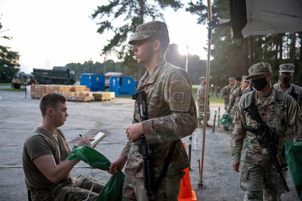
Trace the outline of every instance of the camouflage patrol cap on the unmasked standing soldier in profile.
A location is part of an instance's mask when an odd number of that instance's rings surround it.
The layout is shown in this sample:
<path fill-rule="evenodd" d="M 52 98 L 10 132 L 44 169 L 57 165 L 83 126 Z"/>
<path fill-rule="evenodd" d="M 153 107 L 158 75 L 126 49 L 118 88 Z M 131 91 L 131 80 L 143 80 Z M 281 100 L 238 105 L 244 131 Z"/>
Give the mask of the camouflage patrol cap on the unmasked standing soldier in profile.
<path fill-rule="evenodd" d="M 135 36 L 129 40 L 129 44 L 133 45 L 136 40 L 147 39 L 151 36 L 166 36 L 169 39 L 169 32 L 166 23 L 161 21 L 151 21 L 137 26 Z"/>

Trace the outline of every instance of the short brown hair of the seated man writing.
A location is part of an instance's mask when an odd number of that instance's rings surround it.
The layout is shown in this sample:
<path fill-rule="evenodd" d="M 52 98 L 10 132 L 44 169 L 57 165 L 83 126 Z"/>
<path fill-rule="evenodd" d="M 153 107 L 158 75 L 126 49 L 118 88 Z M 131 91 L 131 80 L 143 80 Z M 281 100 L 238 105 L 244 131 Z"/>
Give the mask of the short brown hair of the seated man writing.
<path fill-rule="evenodd" d="M 42 117 L 46 115 L 48 108 L 53 108 L 55 111 L 58 109 L 58 102 L 66 103 L 65 96 L 59 93 L 45 93 L 40 100 L 40 110 Z"/>

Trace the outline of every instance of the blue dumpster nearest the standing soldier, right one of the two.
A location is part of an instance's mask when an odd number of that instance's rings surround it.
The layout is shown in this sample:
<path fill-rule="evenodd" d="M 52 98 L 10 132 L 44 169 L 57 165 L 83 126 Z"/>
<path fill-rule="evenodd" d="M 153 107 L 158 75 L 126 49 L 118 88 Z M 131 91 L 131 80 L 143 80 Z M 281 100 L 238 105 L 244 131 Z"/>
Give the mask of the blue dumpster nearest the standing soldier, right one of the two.
<path fill-rule="evenodd" d="M 135 94 L 136 82 L 132 77 L 111 77 L 110 91 L 116 96 L 127 96 Z"/>

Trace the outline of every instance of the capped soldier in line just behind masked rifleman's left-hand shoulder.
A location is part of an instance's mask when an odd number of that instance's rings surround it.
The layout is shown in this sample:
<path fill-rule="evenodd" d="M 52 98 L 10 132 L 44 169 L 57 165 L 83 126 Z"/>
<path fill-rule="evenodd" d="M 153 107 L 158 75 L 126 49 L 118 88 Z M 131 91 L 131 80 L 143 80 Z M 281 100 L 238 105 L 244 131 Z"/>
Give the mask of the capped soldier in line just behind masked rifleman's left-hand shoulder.
<path fill-rule="evenodd" d="M 230 135 L 231 136 L 234 132 L 233 120 L 234 120 L 235 112 L 236 112 L 236 109 L 237 109 L 237 105 L 239 103 L 239 100 L 240 100 L 241 96 L 243 95 L 243 92 L 245 91 L 245 89 L 251 83 L 251 81 L 246 80 L 246 78 L 247 78 L 246 75 L 242 76 L 242 86 L 233 91 L 233 93 L 231 94 L 231 97 L 230 97 L 229 105 L 226 108 L 226 113 L 228 113 L 230 115 L 229 130 L 230 130 Z"/>

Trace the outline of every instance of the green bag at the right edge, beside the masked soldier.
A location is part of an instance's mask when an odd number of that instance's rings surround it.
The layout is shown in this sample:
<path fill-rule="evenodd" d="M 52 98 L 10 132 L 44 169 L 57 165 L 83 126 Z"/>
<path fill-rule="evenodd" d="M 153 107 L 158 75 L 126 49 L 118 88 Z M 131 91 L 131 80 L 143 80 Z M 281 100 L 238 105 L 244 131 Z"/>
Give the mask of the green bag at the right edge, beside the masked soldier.
<path fill-rule="evenodd" d="M 295 189 L 302 200 L 302 143 L 286 142 L 285 157 Z"/>

